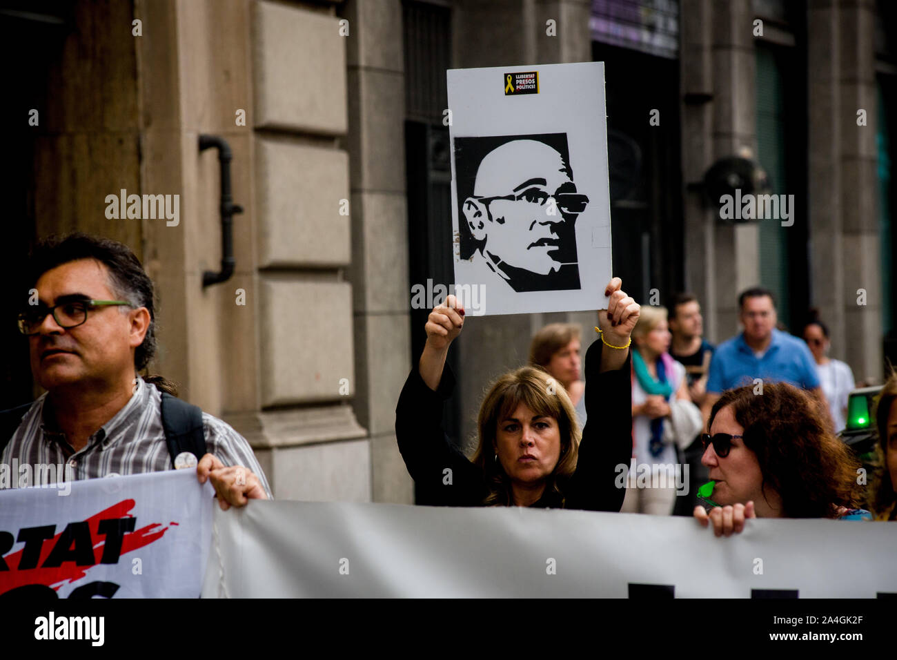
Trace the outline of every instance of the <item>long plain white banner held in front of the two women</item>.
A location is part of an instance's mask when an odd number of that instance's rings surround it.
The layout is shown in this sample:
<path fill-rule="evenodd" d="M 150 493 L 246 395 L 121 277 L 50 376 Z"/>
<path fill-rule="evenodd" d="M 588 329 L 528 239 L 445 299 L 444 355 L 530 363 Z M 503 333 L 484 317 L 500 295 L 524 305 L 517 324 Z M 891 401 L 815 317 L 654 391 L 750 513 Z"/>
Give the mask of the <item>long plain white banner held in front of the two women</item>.
<path fill-rule="evenodd" d="M 253 501 L 215 510 L 204 597 L 875 598 L 897 524 Z"/>

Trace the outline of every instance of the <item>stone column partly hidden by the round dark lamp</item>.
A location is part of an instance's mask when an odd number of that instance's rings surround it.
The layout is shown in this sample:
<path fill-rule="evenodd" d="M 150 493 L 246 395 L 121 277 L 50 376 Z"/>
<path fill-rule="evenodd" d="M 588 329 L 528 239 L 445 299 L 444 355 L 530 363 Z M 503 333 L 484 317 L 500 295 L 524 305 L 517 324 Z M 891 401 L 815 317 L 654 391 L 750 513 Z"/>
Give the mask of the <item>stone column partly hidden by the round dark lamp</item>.
<path fill-rule="evenodd" d="M 719 342 L 739 330 L 738 292 L 760 280 L 759 227 L 720 224 L 698 186 L 719 158 L 757 153 L 753 10 L 750 0 L 681 7 L 685 287 L 701 301 L 705 335 Z"/>

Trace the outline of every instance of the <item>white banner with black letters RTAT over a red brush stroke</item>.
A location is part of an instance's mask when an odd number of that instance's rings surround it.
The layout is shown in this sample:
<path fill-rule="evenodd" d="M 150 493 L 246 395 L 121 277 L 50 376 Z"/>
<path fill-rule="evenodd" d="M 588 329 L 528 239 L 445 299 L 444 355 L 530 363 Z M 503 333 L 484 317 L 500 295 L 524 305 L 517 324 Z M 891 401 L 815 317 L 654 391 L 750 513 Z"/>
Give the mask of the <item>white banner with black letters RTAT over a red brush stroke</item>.
<path fill-rule="evenodd" d="M 212 506 L 195 470 L 2 490 L 0 596 L 196 598 Z"/>

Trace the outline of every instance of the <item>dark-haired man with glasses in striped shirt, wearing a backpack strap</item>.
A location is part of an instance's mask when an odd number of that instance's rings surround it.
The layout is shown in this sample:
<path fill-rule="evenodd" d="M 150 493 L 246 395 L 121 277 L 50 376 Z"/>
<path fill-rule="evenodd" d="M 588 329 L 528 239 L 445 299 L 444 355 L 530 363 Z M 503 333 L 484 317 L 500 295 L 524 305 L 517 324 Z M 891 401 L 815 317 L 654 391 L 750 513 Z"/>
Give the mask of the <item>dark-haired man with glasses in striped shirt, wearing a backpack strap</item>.
<path fill-rule="evenodd" d="M 152 281 L 126 245 L 85 234 L 40 243 L 22 301 L 19 330 L 47 392 L 0 437 L 0 462 L 65 464 L 66 480 L 196 466 L 222 508 L 270 497 L 247 441 L 221 419 L 202 413 L 198 462 L 170 455 L 161 403 L 173 386 L 138 376 L 156 351 Z"/>

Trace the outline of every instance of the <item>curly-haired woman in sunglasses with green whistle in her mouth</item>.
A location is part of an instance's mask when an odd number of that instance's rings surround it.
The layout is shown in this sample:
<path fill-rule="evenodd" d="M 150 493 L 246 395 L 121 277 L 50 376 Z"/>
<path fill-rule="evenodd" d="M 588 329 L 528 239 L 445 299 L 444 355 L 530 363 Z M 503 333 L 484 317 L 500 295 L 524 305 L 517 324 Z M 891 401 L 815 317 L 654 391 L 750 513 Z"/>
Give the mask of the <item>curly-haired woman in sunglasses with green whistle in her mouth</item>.
<path fill-rule="evenodd" d="M 809 394 L 788 383 L 723 392 L 701 439 L 701 463 L 715 482 L 694 517 L 717 536 L 741 532 L 745 518 L 871 519 L 859 509 L 859 462 L 828 428 Z"/>

